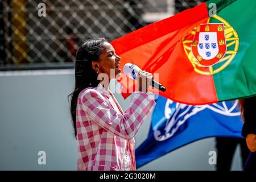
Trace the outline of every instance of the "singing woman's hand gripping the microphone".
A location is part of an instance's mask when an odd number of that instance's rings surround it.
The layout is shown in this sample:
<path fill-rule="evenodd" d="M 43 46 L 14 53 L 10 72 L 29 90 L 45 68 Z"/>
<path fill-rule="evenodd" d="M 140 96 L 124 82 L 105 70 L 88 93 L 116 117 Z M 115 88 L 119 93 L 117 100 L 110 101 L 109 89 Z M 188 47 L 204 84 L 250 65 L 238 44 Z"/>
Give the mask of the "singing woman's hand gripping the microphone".
<path fill-rule="evenodd" d="M 153 76 L 151 73 L 148 73 L 146 71 L 139 72 L 138 79 L 137 79 L 138 91 L 146 93 L 152 79 L 153 79 Z"/>

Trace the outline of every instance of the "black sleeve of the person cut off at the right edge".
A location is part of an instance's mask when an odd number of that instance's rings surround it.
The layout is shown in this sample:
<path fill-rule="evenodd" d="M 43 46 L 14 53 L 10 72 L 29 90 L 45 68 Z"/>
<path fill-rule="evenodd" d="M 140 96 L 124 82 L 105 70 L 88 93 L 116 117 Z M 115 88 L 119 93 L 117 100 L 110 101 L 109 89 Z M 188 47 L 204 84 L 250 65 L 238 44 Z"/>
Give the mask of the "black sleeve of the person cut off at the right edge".
<path fill-rule="evenodd" d="M 256 134 L 256 97 L 245 98 L 242 136 L 246 138 L 248 134 Z"/>

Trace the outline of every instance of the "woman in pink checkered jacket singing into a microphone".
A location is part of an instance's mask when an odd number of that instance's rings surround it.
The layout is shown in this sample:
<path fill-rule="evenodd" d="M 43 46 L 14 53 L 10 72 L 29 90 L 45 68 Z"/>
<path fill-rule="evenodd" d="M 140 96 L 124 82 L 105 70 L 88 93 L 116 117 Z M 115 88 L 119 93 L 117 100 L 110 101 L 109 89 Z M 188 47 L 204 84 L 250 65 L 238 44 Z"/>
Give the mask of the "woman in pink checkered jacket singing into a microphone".
<path fill-rule="evenodd" d="M 78 170 L 135 170 L 134 135 L 155 106 L 146 93 L 152 75 L 139 73 L 138 78 L 146 80 L 146 87 L 139 84 L 123 112 L 108 89 L 110 80 L 121 72 L 120 62 L 121 57 L 104 38 L 84 42 L 77 52 L 75 90 L 70 96 Z M 102 73 L 108 77 L 107 83 L 105 79 L 98 80 Z"/>

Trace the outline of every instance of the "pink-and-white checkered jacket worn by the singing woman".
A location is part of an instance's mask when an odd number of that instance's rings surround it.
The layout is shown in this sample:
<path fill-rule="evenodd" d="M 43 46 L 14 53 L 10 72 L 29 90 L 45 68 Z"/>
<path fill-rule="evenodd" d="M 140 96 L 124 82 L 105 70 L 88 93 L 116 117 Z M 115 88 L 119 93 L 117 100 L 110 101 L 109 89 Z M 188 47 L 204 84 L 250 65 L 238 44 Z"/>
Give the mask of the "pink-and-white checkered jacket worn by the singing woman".
<path fill-rule="evenodd" d="M 109 92 L 99 84 L 79 94 L 76 109 L 78 170 L 126 170 L 127 166 L 136 169 L 134 135 L 154 108 L 155 101 L 146 93 L 135 92 L 123 113 Z"/>

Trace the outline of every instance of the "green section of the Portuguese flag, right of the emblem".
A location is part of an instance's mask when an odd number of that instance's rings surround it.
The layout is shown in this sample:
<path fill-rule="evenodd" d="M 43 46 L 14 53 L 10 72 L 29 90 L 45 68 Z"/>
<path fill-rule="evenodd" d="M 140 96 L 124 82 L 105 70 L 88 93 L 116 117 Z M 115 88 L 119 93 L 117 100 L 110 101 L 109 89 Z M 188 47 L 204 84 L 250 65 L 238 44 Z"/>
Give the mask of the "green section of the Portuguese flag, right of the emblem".
<path fill-rule="evenodd" d="M 240 39 L 237 54 L 232 62 L 224 70 L 213 75 L 219 101 L 256 94 L 255 9 L 256 1 L 237 0 L 217 13 L 236 30 Z M 231 46 L 228 50 L 232 48 Z M 218 64 L 214 66 L 216 67 Z"/>

